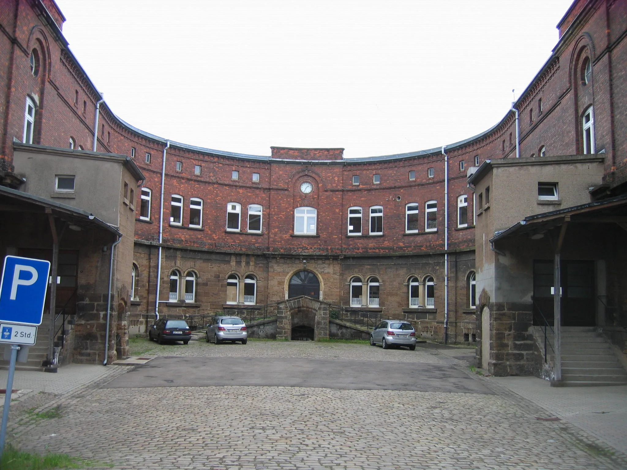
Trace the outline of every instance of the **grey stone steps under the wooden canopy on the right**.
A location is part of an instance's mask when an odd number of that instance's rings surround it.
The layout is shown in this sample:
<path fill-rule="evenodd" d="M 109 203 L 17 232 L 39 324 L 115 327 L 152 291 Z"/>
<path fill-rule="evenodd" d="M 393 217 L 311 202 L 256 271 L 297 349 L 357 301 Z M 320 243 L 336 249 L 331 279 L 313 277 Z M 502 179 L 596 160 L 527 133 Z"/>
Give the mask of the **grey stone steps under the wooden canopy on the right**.
<path fill-rule="evenodd" d="M 627 372 L 608 340 L 596 332 L 596 328 L 562 326 L 561 385 L 627 385 Z"/>

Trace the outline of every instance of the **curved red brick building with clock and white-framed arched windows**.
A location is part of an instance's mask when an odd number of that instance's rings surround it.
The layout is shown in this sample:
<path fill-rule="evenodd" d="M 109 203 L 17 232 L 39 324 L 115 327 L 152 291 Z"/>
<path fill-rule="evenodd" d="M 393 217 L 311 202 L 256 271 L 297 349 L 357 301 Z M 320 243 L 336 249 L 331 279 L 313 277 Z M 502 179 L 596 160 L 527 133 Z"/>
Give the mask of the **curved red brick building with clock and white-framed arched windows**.
<path fill-rule="evenodd" d="M 146 180 L 135 204 L 134 259 L 120 262 L 134 273 L 135 315 L 261 308 L 308 292 L 347 310 L 416 320 L 437 340 L 472 342 L 470 168 L 598 153 L 605 177 L 594 196 L 624 191 L 624 2 L 574 1 L 549 60 L 487 131 L 361 159 L 344 159 L 342 149 L 235 154 L 132 127 L 71 53 L 54 0 L 1 3 L 3 177 L 11 177 L 14 139 L 86 150 L 95 142 L 93 150 L 134 159 Z"/>

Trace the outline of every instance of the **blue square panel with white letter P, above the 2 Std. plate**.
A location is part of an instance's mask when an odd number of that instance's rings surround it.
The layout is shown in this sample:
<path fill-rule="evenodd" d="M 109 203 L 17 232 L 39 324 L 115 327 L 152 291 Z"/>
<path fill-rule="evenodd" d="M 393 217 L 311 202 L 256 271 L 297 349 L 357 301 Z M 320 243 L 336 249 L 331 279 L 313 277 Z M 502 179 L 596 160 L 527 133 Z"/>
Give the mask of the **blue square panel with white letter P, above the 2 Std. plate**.
<path fill-rule="evenodd" d="M 49 274 L 50 261 L 21 256 L 4 258 L 0 321 L 41 325 Z M 0 335 L 4 335 L 4 328 Z"/>

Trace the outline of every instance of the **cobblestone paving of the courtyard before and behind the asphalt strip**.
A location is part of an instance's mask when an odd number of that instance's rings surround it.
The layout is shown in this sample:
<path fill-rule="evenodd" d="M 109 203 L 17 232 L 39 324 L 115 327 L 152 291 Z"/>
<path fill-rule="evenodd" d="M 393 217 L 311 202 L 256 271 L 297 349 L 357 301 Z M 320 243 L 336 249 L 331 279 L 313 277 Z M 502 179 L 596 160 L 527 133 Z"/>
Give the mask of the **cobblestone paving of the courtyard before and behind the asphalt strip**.
<path fill-rule="evenodd" d="M 151 355 L 368 358 L 404 367 L 428 361 L 461 367 L 434 350 L 337 343 L 192 342 L 153 349 Z M 460 394 L 95 385 L 38 410 L 53 406 L 60 406 L 61 417 L 14 420 L 11 440 L 23 449 L 67 452 L 118 470 L 624 468 L 624 461 L 571 427 L 537 419 L 551 415 L 505 389 Z"/>

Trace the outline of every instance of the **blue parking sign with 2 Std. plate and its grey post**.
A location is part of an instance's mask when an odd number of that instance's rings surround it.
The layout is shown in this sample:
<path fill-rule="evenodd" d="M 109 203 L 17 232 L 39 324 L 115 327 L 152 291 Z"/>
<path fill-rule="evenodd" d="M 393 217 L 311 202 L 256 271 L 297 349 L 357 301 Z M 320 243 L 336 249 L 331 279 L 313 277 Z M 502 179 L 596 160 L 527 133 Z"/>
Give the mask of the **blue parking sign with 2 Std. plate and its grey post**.
<path fill-rule="evenodd" d="M 48 288 L 50 261 L 6 256 L 0 280 L 0 343 L 11 345 L 11 362 L 0 426 L 0 457 L 4 452 L 6 425 L 13 391 L 13 376 L 21 345 L 34 345 L 41 325 Z M 54 312 L 51 313 L 54 315 Z"/>

